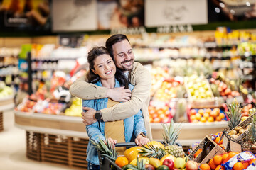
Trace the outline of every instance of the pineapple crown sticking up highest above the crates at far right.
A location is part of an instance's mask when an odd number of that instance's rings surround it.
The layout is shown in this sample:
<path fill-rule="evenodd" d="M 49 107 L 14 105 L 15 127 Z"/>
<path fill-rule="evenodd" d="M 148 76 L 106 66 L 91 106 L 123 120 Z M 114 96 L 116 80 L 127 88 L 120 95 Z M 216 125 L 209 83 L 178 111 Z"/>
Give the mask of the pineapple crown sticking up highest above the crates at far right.
<path fill-rule="evenodd" d="M 228 106 L 227 116 L 229 118 L 228 128 L 232 130 L 240 123 L 240 119 L 242 117 L 242 108 L 240 103 L 233 101 L 233 103 Z"/>

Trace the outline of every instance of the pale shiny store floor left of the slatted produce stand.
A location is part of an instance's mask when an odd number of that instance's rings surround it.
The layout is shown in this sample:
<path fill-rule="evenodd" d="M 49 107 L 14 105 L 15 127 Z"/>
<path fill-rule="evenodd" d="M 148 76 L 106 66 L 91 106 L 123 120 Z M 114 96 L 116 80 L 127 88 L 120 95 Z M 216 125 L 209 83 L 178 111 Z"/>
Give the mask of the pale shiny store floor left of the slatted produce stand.
<path fill-rule="evenodd" d="M 59 170 L 68 166 L 36 162 L 26 157 L 25 130 L 14 125 L 14 113 L 4 112 L 4 131 L 0 132 L 0 169 L 1 170 Z M 74 168 L 75 169 L 75 168 Z"/>

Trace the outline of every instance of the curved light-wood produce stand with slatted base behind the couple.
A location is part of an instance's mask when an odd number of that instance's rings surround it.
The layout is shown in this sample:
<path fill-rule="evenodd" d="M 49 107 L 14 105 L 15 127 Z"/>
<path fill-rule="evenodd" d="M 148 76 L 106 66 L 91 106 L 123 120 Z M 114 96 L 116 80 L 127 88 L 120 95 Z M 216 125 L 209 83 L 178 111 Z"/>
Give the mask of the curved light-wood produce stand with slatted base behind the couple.
<path fill-rule="evenodd" d="M 80 117 L 14 111 L 15 125 L 26 130 L 26 156 L 39 162 L 52 162 L 86 168 L 88 136 Z M 175 123 L 176 125 L 179 123 Z M 181 123 L 178 138 L 184 146 L 201 141 L 227 127 L 226 122 Z M 161 123 L 151 123 L 154 140 L 162 140 Z"/>

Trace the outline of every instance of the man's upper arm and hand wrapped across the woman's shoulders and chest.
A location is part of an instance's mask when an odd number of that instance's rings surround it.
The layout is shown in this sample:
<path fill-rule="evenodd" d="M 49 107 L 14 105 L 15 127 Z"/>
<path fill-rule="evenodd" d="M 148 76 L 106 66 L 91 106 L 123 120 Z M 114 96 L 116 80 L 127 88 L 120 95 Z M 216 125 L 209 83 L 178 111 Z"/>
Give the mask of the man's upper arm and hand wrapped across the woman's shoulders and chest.
<path fill-rule="evenodd" d="M 84 100 L 108 97 L 112 98 L 114 101 L 124 102 L 130 99 L 131 91 L 129 89 L 124 89 L 124 87 L 108 89 L 87 83 L 85 77 L 86 75 L 80 77 L 70 86 L 70 94 Z"/>

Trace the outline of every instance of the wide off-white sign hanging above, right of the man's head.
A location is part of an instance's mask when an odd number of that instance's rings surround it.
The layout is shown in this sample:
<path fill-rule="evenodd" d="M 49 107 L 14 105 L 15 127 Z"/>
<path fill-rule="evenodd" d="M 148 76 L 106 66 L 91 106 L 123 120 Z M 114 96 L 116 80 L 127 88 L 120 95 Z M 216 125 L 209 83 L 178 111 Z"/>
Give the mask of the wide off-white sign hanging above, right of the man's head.
<path fill-rule="evenodd" d="M 145 26 L 206 24 L 206 0 L 146 0 Z"/>

